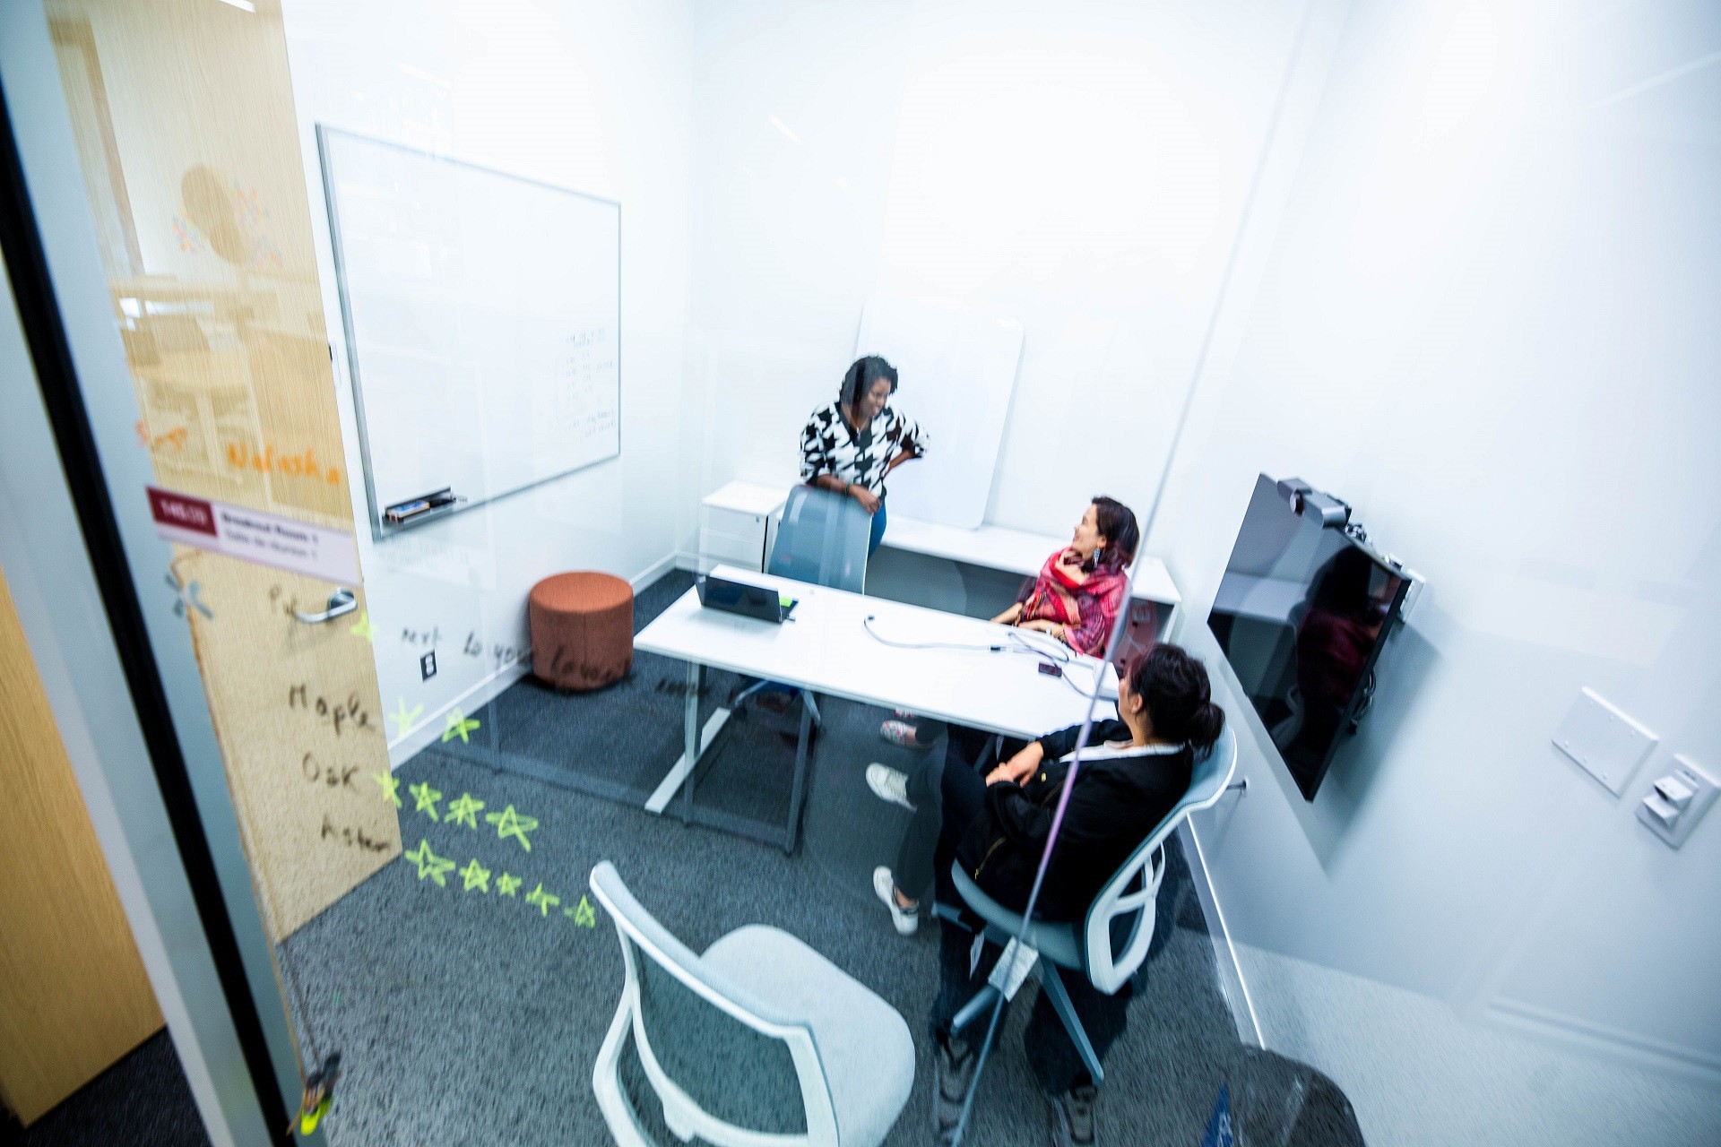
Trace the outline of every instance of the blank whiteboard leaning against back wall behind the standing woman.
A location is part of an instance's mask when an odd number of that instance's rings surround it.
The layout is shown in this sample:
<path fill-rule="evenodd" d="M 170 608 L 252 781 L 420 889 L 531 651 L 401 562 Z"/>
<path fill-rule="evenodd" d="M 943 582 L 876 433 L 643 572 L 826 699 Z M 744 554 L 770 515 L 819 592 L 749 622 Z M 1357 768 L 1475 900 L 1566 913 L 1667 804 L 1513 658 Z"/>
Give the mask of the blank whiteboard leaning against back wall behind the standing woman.
<path fill-rule="evenodd" d="M 890 512 L 978 530 L 1015 392 L 1022 323 L 879 294 L 860 315 L 855 358 L 864 354 L 883 354 L 897 368 L 891 406 L 929 439 L 926 457 L 890 473 Z"/>

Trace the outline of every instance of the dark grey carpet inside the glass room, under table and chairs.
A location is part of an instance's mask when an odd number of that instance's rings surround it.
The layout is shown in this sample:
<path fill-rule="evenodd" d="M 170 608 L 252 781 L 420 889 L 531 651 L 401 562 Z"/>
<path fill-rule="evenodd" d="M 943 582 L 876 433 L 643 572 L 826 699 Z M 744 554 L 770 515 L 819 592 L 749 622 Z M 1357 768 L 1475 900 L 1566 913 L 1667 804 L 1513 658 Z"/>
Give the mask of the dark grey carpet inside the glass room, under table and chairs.
<path fill-rule="evenodd" d="M 687 585 L 685 574 L 671 574 L 642 592 L 638 623 Z M 740 684 L 714 678 L 716 696 Z M 888 1142 L 929 1142 L 924 1032 L 938 925 L 898 937 L 869 887 L 873 865 L 890 862 L 907 817 L 876 800 L 860 776 L 869 760 L 910 760 L 876 736 L 888 714 L 824 705 L 805 839 L 800 855 L 785 856 L 590 794 L 608 786 L 638 801 L 656 786 L 680 751 L 682 681 L 680 664 L 649 655 L 637 659 L 630 679 L 592 695 L 563 696 L 521 681 L 478 714 L 484 726 L 472 746 L 435 746 L 401 767 L 403 796 L 410 784 L 430 784 L 442 793 L 444 813 L 463 793 L 485 801 L 470 829 L 430 820 L 408 796 L 401 829 L 410 850 L 427 841 L 461 867 L 477 860 L 490 870 L 492 889 L 461 891 L 458 872 L 439 887 L 401 860 L 282 946 L 308 1051 L 342 1052 L 342 1082 L 324 1125 L 336 1147 L 608 1142 L 590 1071 L 614 1015 L 621 954 L 601 911 L 595 927 L 564 915 L 601 860 L 614 862 L 638 899 L 695 951 L 745 923 L 776 925 L 890 1001 L 909 1020 L 919 1064 Z M 700 777 L 702 803 L 780 819 L 793 764 L 783 736 L 793 731 L 792 714 L 731 722 Z M 537 776 L 482 764 L 497 760 L 489 757 L 496 751 L 534 762 Z M 558 776 L 564 782 L 546 779 Z M 485 824 L 485 813 L 506 805 L 539 820 L 527 834 L 530 851 Z M 1231 1082 L 1236 1094 L 1248 1075 L 1249 1056 L 1234 1037 L 1181 856 L 1172 867 L 1162 892 L 1163 942 L 1143 973 L 1129 1032 L 1107 1059 L 1107 1144 L 1193 1147 L 1220 1083 Z M 515 898 L 496 892 L 504 870 L 523 879 Z M 525 901 L 539 884 L 561 898 L 549 915 Z M 1172 920 L 1179 927 L 1167 927 Z M 1021 1052 L 1034 991 L 1024 989 L 1012 1008 L 979 1085 L 972 1144 L 1046 1142 L 1045 1104 Z M 1308 1073 L 1296 1078 L 1306 1090 Z M 652 1109 L 644 1092 L 635 1106 Z"/>

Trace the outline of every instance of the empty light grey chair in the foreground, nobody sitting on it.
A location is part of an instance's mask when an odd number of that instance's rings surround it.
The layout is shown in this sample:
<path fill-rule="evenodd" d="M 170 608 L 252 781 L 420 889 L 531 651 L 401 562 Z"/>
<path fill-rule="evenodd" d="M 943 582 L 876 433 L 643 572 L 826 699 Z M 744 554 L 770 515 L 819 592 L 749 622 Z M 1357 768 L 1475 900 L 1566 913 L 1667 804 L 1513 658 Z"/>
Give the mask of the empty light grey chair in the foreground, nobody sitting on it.
<path fill-rule="evenodd" d="M 895 1008 L 780 929 L 749 925 L 694 954 L 645 911 L 608 860 L 592 892 L 621 937 L 621 1006 L 592 1068 L 623 1147 L 649 1135 L 621 1085 L 640 1066 L 682 1140 L 719 1147 L 876 1147 L 914 1085 L 914 1040 Z"/>

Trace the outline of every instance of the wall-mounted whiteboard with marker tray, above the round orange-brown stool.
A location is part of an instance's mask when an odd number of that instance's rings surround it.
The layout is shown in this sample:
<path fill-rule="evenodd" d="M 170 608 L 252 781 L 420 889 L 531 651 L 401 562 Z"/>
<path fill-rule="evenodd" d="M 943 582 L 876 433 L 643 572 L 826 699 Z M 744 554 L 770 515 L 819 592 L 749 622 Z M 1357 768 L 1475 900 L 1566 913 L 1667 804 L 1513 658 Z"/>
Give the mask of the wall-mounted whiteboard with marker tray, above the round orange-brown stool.
<path fill-rule="evenodd" d="M 621 206 L 318 127 L 377 537 L 621 452 Z M 446 511 L 384 511 L 449 488 Z"/>

